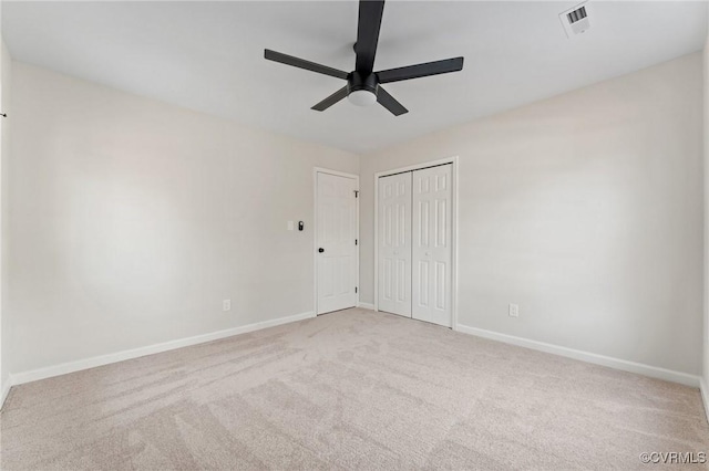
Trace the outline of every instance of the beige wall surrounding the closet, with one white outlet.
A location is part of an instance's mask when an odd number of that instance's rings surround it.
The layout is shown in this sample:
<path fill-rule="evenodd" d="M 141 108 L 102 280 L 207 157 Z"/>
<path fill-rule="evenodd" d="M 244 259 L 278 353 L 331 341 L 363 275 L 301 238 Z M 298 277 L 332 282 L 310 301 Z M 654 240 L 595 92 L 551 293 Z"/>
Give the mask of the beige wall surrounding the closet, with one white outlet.
<path fill-rule="evenodd" d="M 461 324 L 700 374 L 701 69 L 695 53 L 362 156 L 361 301 L 374 172 L 456 155 Z"/>

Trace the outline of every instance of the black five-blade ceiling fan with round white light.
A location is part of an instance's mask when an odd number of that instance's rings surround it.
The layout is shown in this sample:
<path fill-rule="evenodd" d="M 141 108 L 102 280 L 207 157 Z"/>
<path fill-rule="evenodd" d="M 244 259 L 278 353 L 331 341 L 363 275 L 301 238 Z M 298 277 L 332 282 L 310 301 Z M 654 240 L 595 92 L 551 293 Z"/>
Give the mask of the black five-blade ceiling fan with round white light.
<path fill-rule="evenodd" d="M 360 0 L 357 42 L 354 43 L 357 61 L 354 70 L 350 73 L 271 51 L 270 49 L 264 51 L 264 56 L 269 61 L 280 62 L 281 64 L 347 81 L 347 85 L 315 105 L 312 109 L 323 112 L 347 96 L 348 100 L 356 105 L 367 106 L 379 102 L 380 105 L 389 109 L 394 116 L 402 115 L 409 111 L 387 93 L 387 91 L 381 87 L 381 84 L 458 72 L 463 70 L 463 57 L 446 59 L 443 61 L 374 72 L 374 55 L 377 54 L 377 43 L 379 41 L 379 30 L 381 28 L 381 15 L 383 11 L 384 0 Z"/>

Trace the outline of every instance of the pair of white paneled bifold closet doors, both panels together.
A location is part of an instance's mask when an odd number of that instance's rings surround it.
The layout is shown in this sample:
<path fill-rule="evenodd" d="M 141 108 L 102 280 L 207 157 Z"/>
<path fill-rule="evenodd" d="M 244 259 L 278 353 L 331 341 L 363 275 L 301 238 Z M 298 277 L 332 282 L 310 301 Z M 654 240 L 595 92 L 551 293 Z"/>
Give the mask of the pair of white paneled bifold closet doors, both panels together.
<path fill-rule="evenodd" d="M 379 311 L 452 326 L 452 167 L 379 177 Z"/>

